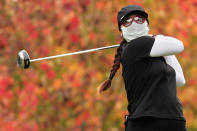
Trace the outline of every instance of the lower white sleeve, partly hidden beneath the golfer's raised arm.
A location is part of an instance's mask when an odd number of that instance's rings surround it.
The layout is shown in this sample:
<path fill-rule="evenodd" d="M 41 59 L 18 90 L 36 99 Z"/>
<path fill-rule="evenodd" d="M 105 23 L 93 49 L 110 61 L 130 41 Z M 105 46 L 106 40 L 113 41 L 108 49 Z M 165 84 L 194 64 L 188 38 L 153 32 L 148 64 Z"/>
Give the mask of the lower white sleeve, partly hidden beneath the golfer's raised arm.
<path fill-rule="evenodd" d="M 164 56 L 166 63 L 174 68 L 176 72 L 176 86 L 183 86 L 185 84 L 185 77 L 183 70 L 175 55 Z"/>

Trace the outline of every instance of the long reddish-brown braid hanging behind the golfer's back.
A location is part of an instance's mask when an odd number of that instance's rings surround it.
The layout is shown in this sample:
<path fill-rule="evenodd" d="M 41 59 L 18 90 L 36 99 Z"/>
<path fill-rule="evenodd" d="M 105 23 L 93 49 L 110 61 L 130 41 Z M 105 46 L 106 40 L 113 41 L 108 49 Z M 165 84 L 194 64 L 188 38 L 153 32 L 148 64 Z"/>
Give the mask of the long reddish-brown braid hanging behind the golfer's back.
<path fill-rule="evenodd" d="M 121 54 L 122 54 L 122 50 L 123 50 L 122 48 L 123 48 L 124 43 L 126 43 L 126 41 L 122 40 L 122 42 L 120 43 L 120 46 L 117 48 L 117 52 L 114 58 L 114 64 L 112 66 L 109 79 L 104 81 L 98 87 L 98 93 L 101 93 L 102 91 L 107 90 L 111 86 L 112 79 L 115 76 L 117 70 L 120 68 Z"/>

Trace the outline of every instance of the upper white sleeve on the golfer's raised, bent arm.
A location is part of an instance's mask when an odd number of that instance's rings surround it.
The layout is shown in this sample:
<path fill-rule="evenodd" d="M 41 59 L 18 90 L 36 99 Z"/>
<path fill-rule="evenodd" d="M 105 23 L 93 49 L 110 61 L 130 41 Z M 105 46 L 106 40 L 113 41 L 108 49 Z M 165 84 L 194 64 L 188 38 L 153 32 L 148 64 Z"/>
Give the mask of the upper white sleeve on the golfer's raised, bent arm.
<path fill-rule="evenodd" d="M 168 56 L 184 50 L 183 43 L 173 37 L 157 35 L 150 52 L 151 57 Z"/>

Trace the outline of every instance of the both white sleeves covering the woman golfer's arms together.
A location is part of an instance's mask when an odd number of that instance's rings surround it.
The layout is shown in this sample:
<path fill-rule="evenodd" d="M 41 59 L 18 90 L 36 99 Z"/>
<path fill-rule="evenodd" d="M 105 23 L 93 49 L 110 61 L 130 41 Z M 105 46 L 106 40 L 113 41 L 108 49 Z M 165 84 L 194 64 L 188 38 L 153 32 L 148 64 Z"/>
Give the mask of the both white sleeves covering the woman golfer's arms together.
<path fill-rule="evenodd" d="M 150 52 L 151 57 L 164 56 L 166 63 L 174 68 L 177 86 L 183 86 L 185 84 L 185 77 L 181 65 L 175 57 L 175 54 L 183 50 L 184 45 L 180 40 L 169 36 L 157 35 Z"/>

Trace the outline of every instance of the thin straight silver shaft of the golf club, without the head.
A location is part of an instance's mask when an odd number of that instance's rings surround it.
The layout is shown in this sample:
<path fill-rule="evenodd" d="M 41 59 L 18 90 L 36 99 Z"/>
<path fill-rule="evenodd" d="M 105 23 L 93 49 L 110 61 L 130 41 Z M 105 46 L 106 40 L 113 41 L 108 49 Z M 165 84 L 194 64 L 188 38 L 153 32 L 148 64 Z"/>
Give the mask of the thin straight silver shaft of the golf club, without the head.
<path fill-rule="evenodd" d="M 30 62 L 40 61 L 40 60 L 47 60 L 47 59 L 53 59 L 53 58 L 69 56 L 69 55 L 84 54 L 84 53 L 93 52 L 93 51 L 97 51 L 97 50 L 104 50 L 104 49 L 109 49 L 109 48 L 115 48 L 115 47 L 118 47 L 118 46 L 119 46 L 119 44 L 118 45 L 112 45 L 112 46 L 95 48 L 95 49 L 88 49 L 88 50 L 83 50 L 83 51 L 77 51 L 77 52 L 72 52 L 72 53 L 66 53 L 66 54 L 61 54 L 61 55 L 43 57 L 43 58 L 38 58 L 38 59 L 32 59 L 32 60 L 30 60 Z"/>

